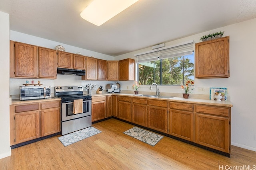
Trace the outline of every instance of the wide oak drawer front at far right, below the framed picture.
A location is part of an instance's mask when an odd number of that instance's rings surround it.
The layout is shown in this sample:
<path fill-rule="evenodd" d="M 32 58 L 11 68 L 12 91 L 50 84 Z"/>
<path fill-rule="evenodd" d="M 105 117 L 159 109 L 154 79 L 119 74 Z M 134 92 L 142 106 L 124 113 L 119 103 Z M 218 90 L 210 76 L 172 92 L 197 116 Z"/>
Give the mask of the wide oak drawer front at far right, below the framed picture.
<path fill-rule="evenodd" d="M 219 115 L 229 117 L 229 108 L 225 107 L 211 107 L 211 106 L 196 106 L 197 113 L 207 113 L 212 115 Z"/>

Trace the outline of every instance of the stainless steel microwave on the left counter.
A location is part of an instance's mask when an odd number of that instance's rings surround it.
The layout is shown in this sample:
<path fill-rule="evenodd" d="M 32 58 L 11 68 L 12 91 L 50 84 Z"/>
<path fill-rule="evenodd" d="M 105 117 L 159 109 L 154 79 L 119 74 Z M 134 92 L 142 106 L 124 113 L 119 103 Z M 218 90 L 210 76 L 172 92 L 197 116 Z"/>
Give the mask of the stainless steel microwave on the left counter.
<path fill-rule="evenodd" d="M 51 97 L 51 86 L 20 86 L 20 100 L 45 99 Z"/>

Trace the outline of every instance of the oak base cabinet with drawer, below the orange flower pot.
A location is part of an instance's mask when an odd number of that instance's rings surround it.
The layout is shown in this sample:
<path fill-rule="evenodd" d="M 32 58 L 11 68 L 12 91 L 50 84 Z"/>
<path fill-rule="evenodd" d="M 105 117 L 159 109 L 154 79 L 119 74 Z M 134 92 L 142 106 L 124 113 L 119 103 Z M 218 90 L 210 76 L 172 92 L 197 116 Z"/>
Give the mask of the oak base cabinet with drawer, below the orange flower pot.
<path fill-rule="evenodd" d="M 170 102 L 168 134 L 194 141 L 194 105 Z"/>

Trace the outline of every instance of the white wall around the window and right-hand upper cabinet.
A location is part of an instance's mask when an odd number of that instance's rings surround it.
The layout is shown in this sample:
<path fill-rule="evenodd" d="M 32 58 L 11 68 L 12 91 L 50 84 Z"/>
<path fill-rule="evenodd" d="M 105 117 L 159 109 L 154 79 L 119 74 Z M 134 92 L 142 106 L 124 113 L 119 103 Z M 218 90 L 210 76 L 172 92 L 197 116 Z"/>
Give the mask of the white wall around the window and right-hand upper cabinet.
<path fill-rule="evenodd" d="M 195 90 L 193 94 L 209 94 L 210 87 L 227 87 L 230 101 L 233 104 L 231 113 L 231 144 L 256 151 L 256 112 L 254 94 L 256 85 L 256 19 L 248 20 L 211 31 L 199 33 L 176 41 L 166 43 L 174 45 L 188 40 L 195 43 L 201 42 L 202 35 L 225 31 L 223 36 L 230 36 L 230 77 L 195 79 Z M 132 58 L 134 54 L 149 51 L 150 48 L 134 51 L 116 57 L 116 60 Z M 131 87 L 133 81 L 122 82 L 122 86 Z M 198 92 L 198 87 L 204 87 L 205 92 Z M 142 91 L 149 91 L 148 86 L 142 87 Z M 160 87 L 160 94 L 163 92 L 182 93 L 180 87 Z M 193 96 L 193 95 L 192 95 Z"/>

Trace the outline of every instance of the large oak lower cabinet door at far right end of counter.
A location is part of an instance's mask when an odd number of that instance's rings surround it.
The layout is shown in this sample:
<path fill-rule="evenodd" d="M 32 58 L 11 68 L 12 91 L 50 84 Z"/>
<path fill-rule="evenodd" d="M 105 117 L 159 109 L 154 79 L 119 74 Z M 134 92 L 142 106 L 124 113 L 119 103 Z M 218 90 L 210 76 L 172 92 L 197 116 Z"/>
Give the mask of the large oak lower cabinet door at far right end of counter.
<path fill-rule="evenodd" d="M 196 113 L 195 142 L 230 153 L 230 119 L 215 115 Z"/>

